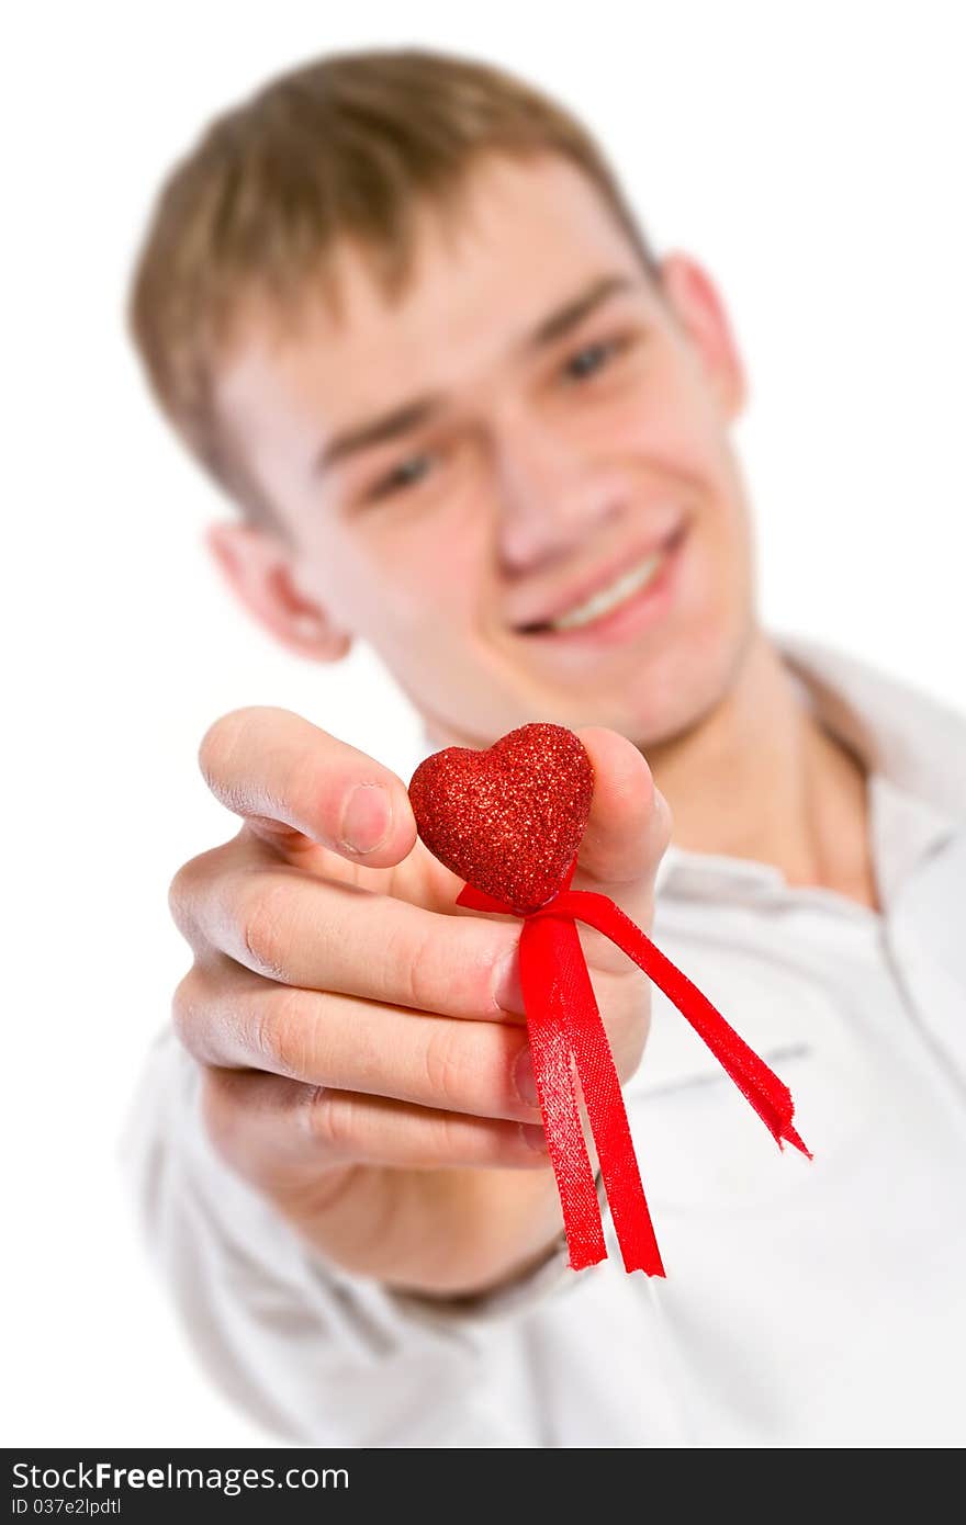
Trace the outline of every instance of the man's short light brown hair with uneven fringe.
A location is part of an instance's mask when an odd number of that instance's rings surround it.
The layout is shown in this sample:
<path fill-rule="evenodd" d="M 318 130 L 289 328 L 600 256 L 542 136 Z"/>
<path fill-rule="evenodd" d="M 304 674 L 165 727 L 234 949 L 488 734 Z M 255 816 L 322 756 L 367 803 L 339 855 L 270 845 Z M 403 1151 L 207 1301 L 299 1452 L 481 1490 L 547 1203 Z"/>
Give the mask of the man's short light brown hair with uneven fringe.
<path fill-rule="evenodd" d="M 214 406 L 244 299 L 279 314 L 331 282 L 353 241 L 391 296 L 414 212 L 458 200 L 482 154 L 555 152 L 598 188 L 656 270 L 603 152 L 557 102 L 501 69 L 426 50 L 330 55 L 218 116 L 160 188 L 136 264 L 130 326 L 151 389 L 189 450 L 255 522 L 275 515 Z M 328 256 L 328 258 L 327 258 Z"/>

